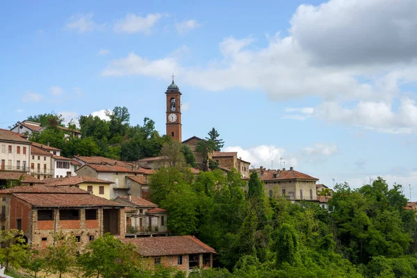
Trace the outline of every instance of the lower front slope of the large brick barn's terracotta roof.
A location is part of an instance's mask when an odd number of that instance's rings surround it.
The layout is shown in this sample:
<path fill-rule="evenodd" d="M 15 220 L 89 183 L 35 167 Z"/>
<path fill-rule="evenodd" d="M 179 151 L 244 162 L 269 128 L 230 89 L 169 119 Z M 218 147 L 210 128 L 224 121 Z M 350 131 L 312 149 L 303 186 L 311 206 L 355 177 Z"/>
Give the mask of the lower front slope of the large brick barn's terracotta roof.
<path fill-rule="evenodd" d="M 74 206 L 122 206 L 121 204 L 97 197 L 84 191 L 84 194 L 73 193 L 13 193 L 19 199 L 22 199 L 33 206 L 38 207 L 74 207 Z"/>

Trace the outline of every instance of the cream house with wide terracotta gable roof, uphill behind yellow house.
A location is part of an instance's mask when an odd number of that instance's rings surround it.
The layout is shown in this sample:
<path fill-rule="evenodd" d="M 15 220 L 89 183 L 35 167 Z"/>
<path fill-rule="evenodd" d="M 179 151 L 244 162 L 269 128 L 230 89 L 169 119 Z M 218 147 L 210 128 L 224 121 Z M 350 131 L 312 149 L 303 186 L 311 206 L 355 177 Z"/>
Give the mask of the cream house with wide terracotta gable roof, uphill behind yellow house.
<path fill-rule="evenodd" d="M 155 173 L 155 170 L 146 169 L 142 167 L 135 167 L 124 162 L 115 161 L 114 165 L 107 163 L 102 164 L 84 164 L 76 174 L 79 176 L 95 177 L 97 179 L 104 179 L 105 181 L 113 181 L 113 190 L 110 192 L 110 198 L 114 199 L 117 196 L 126 196 L 131 189 L 131 178 L 128 176 L 149 176 Z M 141 190 L 136 188 L 136 191 Z"/>

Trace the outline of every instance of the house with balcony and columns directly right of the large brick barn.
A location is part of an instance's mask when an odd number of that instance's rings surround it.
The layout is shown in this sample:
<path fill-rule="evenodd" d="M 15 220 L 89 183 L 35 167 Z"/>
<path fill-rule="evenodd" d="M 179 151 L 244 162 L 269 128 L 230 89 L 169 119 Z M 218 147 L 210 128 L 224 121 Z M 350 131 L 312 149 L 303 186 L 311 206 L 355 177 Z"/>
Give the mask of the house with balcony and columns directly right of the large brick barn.
<path fill-rule="evenodd" d="M 167 211 L 136 196 L 118 196 L 115 202 L 126 206 L 126 238 L 167 236 Z"/>

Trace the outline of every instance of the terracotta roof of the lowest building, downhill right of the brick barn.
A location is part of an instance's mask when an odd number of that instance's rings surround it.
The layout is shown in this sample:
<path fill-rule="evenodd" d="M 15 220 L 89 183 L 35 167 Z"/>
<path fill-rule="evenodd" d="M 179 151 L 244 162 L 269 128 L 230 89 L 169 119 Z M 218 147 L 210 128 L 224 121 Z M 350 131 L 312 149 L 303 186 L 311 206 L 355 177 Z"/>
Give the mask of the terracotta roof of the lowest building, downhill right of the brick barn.
<path fill-rule="evenodd" d="M 138 247 L 141 256 L 172 256 L 182 254 L 215 253 L 210 246 L 194 236 L 156 236 L 150 238 L 122 238 L 123 243 Z"/>

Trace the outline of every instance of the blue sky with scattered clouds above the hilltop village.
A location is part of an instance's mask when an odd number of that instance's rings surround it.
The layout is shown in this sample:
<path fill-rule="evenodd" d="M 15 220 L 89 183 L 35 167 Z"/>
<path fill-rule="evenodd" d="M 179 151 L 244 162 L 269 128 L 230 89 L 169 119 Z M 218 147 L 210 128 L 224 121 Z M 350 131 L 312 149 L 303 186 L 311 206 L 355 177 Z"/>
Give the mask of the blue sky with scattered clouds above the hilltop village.
<path fill-rule="evenodd" d="M 164 134 L 174 74 L 183 140 L 417 201 L 416 33 L 414 0 L 8 1 L 0 128 L 126 106 Z"/>

